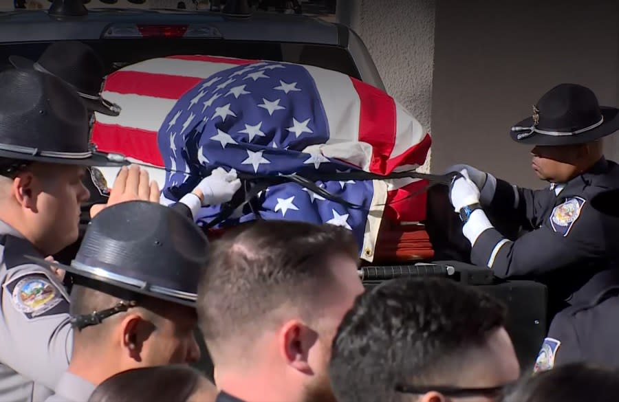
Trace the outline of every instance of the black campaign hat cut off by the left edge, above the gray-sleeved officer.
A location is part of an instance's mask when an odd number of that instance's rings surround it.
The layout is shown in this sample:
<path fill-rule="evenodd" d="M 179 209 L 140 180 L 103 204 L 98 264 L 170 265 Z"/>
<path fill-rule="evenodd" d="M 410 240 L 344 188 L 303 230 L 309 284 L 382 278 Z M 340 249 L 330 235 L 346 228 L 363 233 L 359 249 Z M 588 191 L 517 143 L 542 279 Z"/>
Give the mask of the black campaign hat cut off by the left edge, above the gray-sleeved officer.
<path fill-rule="evenodd" d="M 63 80 L 34 70 L 0 73 L 0 157 L 83 166 L 128 164 L 89 144 L 88 113 Z"/>

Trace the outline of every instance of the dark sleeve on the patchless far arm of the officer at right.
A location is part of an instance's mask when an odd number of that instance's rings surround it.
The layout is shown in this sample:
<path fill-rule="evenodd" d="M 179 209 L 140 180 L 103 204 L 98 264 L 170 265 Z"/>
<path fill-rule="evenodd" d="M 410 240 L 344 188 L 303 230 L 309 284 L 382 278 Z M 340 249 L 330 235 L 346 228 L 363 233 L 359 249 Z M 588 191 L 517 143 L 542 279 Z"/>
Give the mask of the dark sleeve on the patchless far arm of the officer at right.
<path fill-rule="evenodd" d="M 544 213 L 543 205 L 552 197 L 549 190 L 520 188 L 507 181 L 497 179 L 497 189 L 488 212 L 492 216 L 509 219 L 514 225 L 538 227 Z"/>

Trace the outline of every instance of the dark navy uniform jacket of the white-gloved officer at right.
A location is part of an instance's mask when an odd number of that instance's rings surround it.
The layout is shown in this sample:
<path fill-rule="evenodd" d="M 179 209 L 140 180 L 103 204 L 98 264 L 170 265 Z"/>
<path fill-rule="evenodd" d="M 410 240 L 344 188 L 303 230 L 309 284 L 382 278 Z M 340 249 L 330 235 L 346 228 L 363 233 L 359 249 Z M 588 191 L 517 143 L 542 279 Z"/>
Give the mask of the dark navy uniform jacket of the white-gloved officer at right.
<path fill-rule="evenodd" d="M 530 190 L 497 180 L 488 211 L 529 230 L 508 239 L 495 228 L 475 241 L 471 260 L 490 267 L 495 276 L 545 278 L 558 284 L 562 298 L 569 298 L 595 271 L 615 259 L 619 220 L 591 208 L 594 195 L 619 187 L 619 166 L 602 158 L 590 170 L 567 183 L 544 190 Z M 564 269 L 571 269 L 569 273 Z M 561 278 L 556 278 L 561 271 Z M 550 275 L 550 276 L 549 276 Z M 555 277 L 553 277 L 555 276 Z"/>

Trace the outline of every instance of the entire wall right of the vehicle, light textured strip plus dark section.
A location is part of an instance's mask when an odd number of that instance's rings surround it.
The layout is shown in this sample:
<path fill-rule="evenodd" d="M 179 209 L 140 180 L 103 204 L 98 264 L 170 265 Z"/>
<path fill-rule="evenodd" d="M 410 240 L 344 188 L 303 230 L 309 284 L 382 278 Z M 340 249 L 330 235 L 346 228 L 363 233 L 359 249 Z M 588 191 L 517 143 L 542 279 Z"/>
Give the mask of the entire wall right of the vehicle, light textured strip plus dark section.
<path fill-rule="evenodd" d="M 461 162 L 542 186 L 510 126 L 561 82 L 619 103 L 616 1 L 338 0 L 338 17 L 365 41 L 387 91 L 431 130 L 434 172 Z M 618 150 L 609 137 L 607 156 Z"/>

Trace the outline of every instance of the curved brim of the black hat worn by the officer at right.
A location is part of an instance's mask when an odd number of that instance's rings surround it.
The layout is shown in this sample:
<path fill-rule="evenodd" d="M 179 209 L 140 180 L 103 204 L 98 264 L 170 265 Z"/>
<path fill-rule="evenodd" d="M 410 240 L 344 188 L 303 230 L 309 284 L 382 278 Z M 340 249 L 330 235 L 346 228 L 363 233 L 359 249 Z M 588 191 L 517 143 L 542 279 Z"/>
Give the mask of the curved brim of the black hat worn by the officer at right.
<path fill-rule="evenodd" d="M 604 122 L 593 130 L 585 131 L 576 135 L 544 135 L 540 133 L 532 133 L 528 137 L 518 139 L 518 135 L 524 131 L 510 131 L 510 136 L 515 142 L 527 145 L 541 146 L 559 146 L 559 145 L 574 145 L 585 144 L 602 137 L 606 137 L 619 130 L 619 109 L 614 107 L 600 107 Z M 533 118 L 526 118 L 515 124 L 520 127 L 530 127 L 533 125 Z"/>

